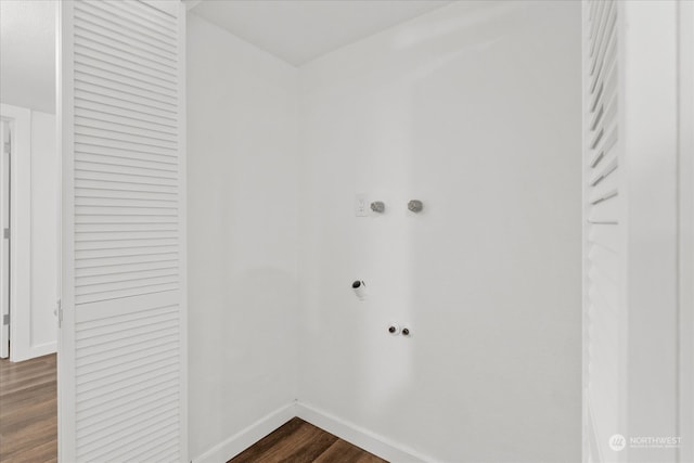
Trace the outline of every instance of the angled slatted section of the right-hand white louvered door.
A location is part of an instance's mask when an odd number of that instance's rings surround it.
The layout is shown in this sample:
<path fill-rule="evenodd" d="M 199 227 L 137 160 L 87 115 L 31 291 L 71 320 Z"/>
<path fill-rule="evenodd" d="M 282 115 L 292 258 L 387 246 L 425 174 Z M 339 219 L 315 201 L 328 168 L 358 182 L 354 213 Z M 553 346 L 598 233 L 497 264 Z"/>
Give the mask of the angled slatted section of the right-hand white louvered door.
<path fill-rule="evenodd" d="M 620 282 L 618 13 L 614 0 L 583 2 L 583 216 L 587 411 L 593 460 L 619 432 Z"/>

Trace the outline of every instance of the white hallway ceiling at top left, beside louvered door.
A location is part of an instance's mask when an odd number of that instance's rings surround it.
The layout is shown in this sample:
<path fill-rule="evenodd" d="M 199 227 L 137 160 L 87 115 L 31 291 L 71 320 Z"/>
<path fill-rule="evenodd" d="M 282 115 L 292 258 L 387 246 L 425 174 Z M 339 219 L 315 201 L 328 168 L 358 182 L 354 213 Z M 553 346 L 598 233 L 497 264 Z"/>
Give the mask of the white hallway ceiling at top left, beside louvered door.
<path fill-rule="evenodd" d="M 0 0 L 0 100 L 55 113 L 55 3 Z"/>

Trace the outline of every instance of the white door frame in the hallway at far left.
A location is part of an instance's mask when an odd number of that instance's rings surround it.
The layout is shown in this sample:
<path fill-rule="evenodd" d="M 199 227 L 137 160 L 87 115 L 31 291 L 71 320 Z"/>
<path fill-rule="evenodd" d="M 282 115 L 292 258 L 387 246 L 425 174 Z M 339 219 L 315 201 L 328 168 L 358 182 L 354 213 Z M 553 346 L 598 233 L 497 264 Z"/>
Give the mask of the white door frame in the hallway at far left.
<path fill-rule="evenodd" d="M 0 104 L 10 123 L 10 360 L 31 356 L 31 111 Z"/>

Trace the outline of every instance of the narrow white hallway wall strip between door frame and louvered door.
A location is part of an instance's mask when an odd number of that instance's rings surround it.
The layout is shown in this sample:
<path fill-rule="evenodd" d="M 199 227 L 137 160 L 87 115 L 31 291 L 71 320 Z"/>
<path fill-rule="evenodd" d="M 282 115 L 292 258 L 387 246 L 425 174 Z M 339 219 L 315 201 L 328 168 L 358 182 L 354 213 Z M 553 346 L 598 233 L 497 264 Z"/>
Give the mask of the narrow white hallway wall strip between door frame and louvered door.
<path fill-rule="evenodd" d="M 31 112 L 31 332 L 33 355 L 55 351 L 60 159 L 55 115 Z"/>

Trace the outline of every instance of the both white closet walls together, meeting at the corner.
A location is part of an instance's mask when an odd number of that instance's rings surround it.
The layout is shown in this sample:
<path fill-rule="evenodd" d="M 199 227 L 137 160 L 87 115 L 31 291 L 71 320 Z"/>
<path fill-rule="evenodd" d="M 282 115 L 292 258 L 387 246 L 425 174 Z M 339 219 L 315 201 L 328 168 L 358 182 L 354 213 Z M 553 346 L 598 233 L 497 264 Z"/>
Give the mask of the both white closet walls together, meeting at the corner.
<path fill-rule="evenodd" d="M 580 459 L 578 3 L 461 2 L 299 69 L 189 14 L 188 105 L 195 461 L 295 399 L 428 461 Z"/>

